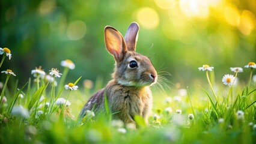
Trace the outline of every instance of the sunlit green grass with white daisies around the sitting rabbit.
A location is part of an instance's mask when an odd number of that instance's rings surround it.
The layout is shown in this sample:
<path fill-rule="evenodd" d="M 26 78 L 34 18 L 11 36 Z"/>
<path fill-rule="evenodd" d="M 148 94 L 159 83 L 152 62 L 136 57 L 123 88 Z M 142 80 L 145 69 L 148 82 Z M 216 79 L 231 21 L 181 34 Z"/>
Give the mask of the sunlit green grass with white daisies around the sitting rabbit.
<path fill-rule="evenodd" d="M 11 50 L 0 49 L 2 62 L 11 60 Z M 0 65 L 0 67 L 1 67 Z M 75 64 L 61 61 L 64 71 L 41 67 L 31 70 L 23 86 L 12 70 L 1 71 L 6 77 L 1 86 L 1 143 L 255 143 L 256 142 L 256 68 L 254 62 L 231 68 L 223 83 L 215 83 L 214 67 L 203 65 L 207 85 L 180 88 L 168 80 L 153 86 L 153 110 L 149 124 L 135 117 L 135 124 L 124 125 L 111 113 L 87 112 L 82 122 L 78 115 L 84 103 L 104 86 L 81 77 L 66 82 Z M 246 69 L 243 72 L 243 69 Z M 248 73 L 248 82 L 239 83 L 239 73 Z M 16 83 L 8 85 L 15 77 Z M 70 76 L 69 76 L 70 77 Z M 72 76 L 71 76 L 72 77 Z M 212 83 L 215 83 L 214 85 Z M 207 90 L 206 90 L 207 89 Z M 106 103 L 107 104 L 107 103 Z"/>

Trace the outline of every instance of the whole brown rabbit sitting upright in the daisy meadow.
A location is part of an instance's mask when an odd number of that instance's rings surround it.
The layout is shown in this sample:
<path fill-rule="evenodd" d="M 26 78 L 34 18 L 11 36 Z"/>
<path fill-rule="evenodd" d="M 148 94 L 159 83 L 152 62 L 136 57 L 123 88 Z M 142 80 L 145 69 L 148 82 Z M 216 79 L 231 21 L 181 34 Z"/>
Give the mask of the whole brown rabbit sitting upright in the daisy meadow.
<path fill-rule="evenodd" d="M 105 27 L 106 49 L 115 58 L 112 80 L 83 107 L 80 118 L 87 110 L 96 114 L 105 110 L 105 95 L 112 118 L 125 124 L 135 122 L 135 115 L 142 116 L 147 123 L 152 108 L 152 94 L 149 86 L 157 81 L 157 73 L 146 56 L 135 52 L 139 26 L 133 22 L 123 38 L 117 29 Z"/>

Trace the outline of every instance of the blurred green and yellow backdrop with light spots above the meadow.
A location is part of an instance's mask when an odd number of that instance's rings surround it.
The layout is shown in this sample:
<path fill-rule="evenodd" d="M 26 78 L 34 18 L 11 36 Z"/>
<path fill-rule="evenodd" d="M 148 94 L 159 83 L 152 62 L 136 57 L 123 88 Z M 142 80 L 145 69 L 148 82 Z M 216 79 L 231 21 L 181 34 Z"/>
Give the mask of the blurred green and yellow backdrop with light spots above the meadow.
<path fill-rule="evenodd" d="M 205 82 L 198 71 L 203 64 L 215 67 L 221 82 L 230 67 L 256 62 L 255 0 L 1 0 L 0 14 L 0 47 L 13 55 L 1 71 L 13 70 L 20 83 L 40 65 L 62 72 L 65 59 L 76 64 L 70 82 L 80 76 L 107 82 L 114 59 L 105 49 L 103 29 L 111 25 L 124 35 L 134 21 L 140 25 L 137 52 L 170 73 L 166 78 L 173 85 Z M 240 80 L 248 80 L 244 71 Z"/>

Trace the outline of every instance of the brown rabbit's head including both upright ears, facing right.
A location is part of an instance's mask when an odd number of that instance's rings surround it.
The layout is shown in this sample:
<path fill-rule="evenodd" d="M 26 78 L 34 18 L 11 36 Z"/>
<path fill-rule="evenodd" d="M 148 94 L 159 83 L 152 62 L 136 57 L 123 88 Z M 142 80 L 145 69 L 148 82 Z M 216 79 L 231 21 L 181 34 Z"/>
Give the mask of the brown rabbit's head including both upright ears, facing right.
<path fill-rule="evenodd" d="M 150 59 L 135 52 L 139 26 L 133 22 L 125 37 L 111 26 L 105 27 L 106 49 L 115 58 L 114 80 L 124 86 L 150 86 L 156 83 L 157 73 Z"/>

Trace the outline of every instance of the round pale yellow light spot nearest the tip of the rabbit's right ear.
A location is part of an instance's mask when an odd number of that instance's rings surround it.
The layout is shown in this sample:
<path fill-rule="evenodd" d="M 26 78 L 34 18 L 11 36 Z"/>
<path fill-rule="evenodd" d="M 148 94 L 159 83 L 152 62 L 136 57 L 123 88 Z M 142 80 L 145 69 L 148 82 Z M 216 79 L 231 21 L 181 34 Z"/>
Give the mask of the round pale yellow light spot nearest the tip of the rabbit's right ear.
<path fill-rule="evenodd" d="M 149 7 L 142 7 L 136 14 L 138 22 L 146 29 L 154 29 L 159 25 L 157 12 Z"/>

